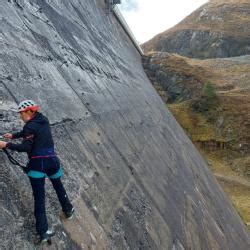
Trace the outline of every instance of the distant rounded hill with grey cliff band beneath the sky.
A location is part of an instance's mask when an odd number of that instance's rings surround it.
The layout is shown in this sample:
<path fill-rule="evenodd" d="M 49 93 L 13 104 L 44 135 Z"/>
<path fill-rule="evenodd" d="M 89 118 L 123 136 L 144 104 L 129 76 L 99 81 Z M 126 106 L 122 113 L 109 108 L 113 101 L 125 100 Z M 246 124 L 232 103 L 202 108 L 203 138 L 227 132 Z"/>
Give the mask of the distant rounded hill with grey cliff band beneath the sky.
<path fill-rule="evenodd" d="M 250 54 L 250 1 L 210 0 L 178 25 L 143 45 L 194 58 Z"/>

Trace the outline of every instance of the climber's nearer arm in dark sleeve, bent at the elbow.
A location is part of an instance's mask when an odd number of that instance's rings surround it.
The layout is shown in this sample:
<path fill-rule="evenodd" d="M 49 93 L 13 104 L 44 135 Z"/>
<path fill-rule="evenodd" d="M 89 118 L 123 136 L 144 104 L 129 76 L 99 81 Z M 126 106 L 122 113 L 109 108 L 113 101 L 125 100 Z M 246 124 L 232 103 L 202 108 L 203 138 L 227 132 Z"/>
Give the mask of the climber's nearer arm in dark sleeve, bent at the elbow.
<path fill-rule="evenodd" d="M 32 148 L 33 139 L 34 139 L 35 131 L 32 127 L 26 126 L 23 129 L 23 141 L 22 143 L 16 144 L 12 142 L 8 142 L 6 148 L 18 151 L 18 152 L 27 152 L 29 153 Z"/>

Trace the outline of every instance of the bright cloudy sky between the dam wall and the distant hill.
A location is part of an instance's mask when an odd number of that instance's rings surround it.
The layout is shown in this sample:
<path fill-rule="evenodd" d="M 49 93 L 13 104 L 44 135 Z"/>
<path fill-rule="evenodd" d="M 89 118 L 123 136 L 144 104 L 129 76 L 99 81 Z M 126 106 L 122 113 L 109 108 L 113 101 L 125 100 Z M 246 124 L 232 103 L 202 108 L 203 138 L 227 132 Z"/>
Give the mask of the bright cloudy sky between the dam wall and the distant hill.
<path fill-rule="evenodd" d="M 121 0 L 118 5 L 139 43 L 173 27 L 208 0 Z"/>

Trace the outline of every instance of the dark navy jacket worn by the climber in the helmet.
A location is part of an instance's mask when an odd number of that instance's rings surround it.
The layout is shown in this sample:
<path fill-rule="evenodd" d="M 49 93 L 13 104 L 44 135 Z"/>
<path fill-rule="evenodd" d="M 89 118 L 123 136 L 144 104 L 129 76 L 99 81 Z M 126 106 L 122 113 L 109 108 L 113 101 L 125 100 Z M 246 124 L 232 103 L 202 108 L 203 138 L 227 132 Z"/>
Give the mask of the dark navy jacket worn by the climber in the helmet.
<path fill-rule="evenodd" d="M 37 112 L 21 132 L 14 133 L 13 139 L 23 138 L 22 143 L 9 142 L 7 148 L 26 152 L 29 159 L 35 156 L 54 155 L 54 142 L 48 119 Z"/>

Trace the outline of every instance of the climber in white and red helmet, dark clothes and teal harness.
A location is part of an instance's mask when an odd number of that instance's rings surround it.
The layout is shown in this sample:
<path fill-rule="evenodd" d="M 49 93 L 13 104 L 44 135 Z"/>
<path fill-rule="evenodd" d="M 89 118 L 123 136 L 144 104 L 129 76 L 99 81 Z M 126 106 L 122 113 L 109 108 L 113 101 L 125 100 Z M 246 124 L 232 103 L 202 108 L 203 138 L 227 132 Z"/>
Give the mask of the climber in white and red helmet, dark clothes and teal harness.
<path fill-rule="evenodd" d="M 45 178 L 48 177 L 56 191 L 65 218 L 71 219 L 74 207 L 69 201 L 61 182 L 62 169 L 54 151 L 54 142 L 49 120 L 40 112 L 39 106 L 33 100 L 24 100 L 18 106 L 18 113 L 25 125 L 21 132 L 7 133 L 6 139 L 23 138 L 22 143 L 0 141 L 0 149 L 10 149 L 28 154 L 28 164 L 25 168 L 34 197 L 34 215 L 39 241 L 49 242 L 54 232 L 48 230 L 45 210 Z"/>

